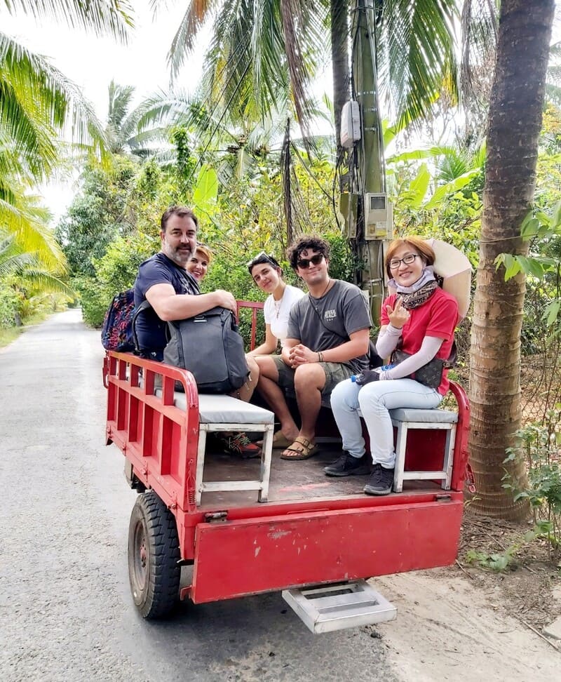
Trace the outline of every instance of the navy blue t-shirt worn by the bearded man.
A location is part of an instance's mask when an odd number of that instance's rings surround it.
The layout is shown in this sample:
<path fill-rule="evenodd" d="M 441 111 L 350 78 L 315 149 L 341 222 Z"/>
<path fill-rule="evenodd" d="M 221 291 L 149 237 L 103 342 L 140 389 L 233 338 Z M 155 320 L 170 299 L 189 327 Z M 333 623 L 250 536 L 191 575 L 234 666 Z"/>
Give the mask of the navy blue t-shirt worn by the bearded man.
<path fill-rule="evenodd" d="M 163 253 L 156 253 L 140 264 L 135 280 L 135 306 L 146 300 L 146 292 L 154 284 L 171 284 L 177 294 L 201 293 L 196 279 Z M 153 308 L 147 308 L 138 314 L 135 328 L 143 356 L 154 360 L 163 359 L 163 349 L 168 343 L 165 335 L 167 326 Z"/>

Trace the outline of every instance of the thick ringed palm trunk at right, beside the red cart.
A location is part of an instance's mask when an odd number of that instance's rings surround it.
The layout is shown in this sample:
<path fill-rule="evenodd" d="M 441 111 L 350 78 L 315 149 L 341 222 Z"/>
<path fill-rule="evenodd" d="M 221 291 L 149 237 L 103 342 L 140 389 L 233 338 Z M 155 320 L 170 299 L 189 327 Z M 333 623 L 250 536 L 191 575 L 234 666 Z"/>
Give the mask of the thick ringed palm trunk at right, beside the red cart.
<path fill-rule="evenodd" d="M 505 469 L 525 481 L 525 465 L 503 464 L 520 427 L 520 330 L 525 278 L 504 281 L 499 253 L 527 253 L 520 225 L 534 199 L 538 136 L 554 0 L 502 0 L 489 105 L 487 166 L 471 335 L 471 463 L 478 488 L 472 508 L 520 520 L 523 500 L 502 488 Z"/>

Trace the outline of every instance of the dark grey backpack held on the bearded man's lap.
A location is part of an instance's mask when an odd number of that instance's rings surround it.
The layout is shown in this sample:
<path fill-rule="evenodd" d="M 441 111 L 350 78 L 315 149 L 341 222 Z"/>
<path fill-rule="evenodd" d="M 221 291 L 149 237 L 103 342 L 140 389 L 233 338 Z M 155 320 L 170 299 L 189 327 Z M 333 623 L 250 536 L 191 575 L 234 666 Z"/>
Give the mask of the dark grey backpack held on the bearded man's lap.
<path fill-rule="evenodd" d="M 163 361 L 189 370 L 200 393 L 231 393 L 248 380 L 243 339 L 231 310 L 215 307 L 171 321 L 168 331 Z"/>

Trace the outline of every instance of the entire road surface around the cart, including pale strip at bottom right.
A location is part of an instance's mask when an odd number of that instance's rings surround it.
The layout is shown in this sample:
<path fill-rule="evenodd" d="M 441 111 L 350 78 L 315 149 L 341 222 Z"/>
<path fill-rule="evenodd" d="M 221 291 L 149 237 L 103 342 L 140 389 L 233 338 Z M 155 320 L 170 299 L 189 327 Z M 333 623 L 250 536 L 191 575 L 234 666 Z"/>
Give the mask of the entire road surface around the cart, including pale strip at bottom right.
<path fill-rule="evenodd" d="M 560 653 L 450 569 L 377 579 L 398 606 L 377 628 L 313 635 L 280 594 L 142 620 L 126 559 L 136 493 L 104 446 L 102 356 L 78 310 L 0 349 L 2 682 L 561 678 Z"/>

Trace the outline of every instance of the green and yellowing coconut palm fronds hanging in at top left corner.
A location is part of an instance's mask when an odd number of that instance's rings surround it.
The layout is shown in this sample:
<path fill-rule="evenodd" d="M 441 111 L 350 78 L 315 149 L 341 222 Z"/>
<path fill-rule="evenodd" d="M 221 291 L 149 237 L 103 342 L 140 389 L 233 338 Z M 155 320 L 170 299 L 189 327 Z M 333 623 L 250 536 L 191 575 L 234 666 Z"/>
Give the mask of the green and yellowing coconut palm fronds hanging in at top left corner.
<path fill-rule="evenodd" d="M 128 2 L 121 0 L 0 0 L 2 11 L 26 13 L 37 20 L 55 17 L 69 27 L 126 39 L 132 25 Z M 27 250 L 49 262 L 60 258 L 36 208 L 22 202 L 25 189 L 46 180 L 59 159 L 58 140 L 72 131 L 73 141 L 104 153 L 104 135 L 81 91 L 48 60 L 0 32 L 0 223 Z"/>

